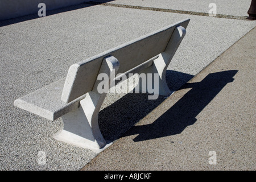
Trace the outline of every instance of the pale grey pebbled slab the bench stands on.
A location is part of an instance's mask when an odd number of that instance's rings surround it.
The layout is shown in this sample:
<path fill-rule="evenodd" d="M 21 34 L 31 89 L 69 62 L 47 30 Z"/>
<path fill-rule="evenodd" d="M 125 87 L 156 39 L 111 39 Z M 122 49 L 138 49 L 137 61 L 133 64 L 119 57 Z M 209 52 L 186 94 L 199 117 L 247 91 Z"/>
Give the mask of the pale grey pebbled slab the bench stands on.
<path fill-rule="evenodd" d="M 0 23 L 1 170 L 77 170 L 97 155 L 53 139 L 63 127 L 61 119 L 48 121 L 13 106 L 16 98 L 67 76 L 70 65 L 190 18 L 187 34 L 167 69 L 168 86 L 176 90 L 255 26 L 243 20 L 100 5 L 65 10 Z M 164 100 L 109 94 L 99 114 L 105 139 L 118 139 Z M 122 107 L 121 113 L 117 107 Z M 113 114 L 118 116 L 114 120 Z M 46 164 L 39 163 L 42 152 Z"/>

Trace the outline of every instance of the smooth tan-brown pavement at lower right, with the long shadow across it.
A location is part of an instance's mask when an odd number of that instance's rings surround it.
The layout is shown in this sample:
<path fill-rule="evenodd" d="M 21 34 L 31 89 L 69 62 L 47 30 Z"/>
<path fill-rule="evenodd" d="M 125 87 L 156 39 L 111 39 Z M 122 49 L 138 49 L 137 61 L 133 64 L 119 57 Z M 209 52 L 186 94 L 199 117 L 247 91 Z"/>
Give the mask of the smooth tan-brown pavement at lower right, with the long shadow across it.
<path fill-rule="evenodd" d="M 255 34 L 256 28 L 82 170 L 255 171 Z"/>

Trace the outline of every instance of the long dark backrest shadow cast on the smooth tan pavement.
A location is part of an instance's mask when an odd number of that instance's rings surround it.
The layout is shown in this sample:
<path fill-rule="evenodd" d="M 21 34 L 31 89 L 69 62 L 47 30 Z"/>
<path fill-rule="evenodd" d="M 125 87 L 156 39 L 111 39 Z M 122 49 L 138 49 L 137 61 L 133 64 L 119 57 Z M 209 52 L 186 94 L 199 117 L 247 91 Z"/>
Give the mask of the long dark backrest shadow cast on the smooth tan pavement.
<path fill-rule="evenodd" d="M 153 123 L 134 126 L 124 136 L 139 134 L 133 139 L 134 142 L 139 142 L 180 134 L 187 126 L 196 122 L 196 116 L 217 96 L 226 84 L 234 80 L 233 76 L 237 72 L 232 70 L 210 73 L 201 82 L 183 85 L 180 89 L 192 89 Z"/>

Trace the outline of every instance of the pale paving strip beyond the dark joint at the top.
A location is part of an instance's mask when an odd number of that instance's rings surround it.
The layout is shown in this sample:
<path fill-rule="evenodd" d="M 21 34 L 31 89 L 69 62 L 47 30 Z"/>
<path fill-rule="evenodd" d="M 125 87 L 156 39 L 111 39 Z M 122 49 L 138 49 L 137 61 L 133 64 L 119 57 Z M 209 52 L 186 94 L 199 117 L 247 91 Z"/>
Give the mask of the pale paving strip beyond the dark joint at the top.
<path fill-rule="evenodd" d="M 213 6 L 210 3 L 216 4 L 216 14 L 233 15 L 233 16 L 249 16 L 247 11 L 251 5 L 251 0 L 232 1 L 232 0 L 98 0 L 96 2 L 108 2 L 118 5 L 131 5 L 142 7 L 154 7 L 160 9 L 194 11 L 200 13 L 209 13 Z"/>

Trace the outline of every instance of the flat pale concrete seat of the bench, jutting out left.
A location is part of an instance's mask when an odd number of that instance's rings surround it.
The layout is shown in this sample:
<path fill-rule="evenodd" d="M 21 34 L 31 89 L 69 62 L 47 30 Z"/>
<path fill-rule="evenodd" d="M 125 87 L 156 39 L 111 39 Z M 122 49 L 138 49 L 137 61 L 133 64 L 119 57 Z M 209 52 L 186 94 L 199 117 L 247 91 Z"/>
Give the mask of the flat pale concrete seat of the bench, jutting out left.
<path fill-rule="evenodd" d="M 79 101 L 85 98 L 85 96 L 81 96 L 68 104 L 61 101 L 64 84 L 65 78 L 62 78 L 59 81 L 18 98 L 15 100 L 14 106 L 54 121 L 79 107 Z"/>

